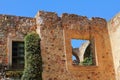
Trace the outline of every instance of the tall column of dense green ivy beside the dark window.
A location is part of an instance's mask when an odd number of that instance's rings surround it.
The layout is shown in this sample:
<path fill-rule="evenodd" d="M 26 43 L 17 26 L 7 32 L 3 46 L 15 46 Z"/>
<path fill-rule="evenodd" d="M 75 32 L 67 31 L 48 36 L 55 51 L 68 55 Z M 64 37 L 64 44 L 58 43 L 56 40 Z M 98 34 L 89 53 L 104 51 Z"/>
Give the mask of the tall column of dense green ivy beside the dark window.
<path fill-rule="evenodd" d="M 42 80 L 40 38 L 35 32 L 25 37 L 25 68 L 21 80 Z"/>

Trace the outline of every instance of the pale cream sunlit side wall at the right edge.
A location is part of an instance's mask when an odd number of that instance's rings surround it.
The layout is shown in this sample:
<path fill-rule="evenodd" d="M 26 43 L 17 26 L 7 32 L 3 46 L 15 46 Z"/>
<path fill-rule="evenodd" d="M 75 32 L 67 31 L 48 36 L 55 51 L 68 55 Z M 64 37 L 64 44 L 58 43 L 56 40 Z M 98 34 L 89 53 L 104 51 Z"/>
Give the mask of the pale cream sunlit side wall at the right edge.
<path fill-rule="evenodd" d="M 120 79 L 120 13 L 108 22 L 108 30 L 112 47 L 113 61 L 115 66 L 116 78 Z"/>

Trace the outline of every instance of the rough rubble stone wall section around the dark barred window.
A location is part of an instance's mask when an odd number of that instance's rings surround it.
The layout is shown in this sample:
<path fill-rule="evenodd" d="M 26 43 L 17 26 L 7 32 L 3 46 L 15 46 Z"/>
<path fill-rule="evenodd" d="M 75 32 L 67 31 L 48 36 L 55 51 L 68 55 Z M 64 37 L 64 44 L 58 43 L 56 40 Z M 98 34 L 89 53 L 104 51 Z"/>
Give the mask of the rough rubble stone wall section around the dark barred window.
<path fill-rule="evenodd" d="M 0 60 L 3 59 L 3 63 L 11 61 L 10 40 L 23 41 L 28 32 L 35 30 L 35 26 L 34 18 L 0 15 Z"/>

